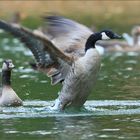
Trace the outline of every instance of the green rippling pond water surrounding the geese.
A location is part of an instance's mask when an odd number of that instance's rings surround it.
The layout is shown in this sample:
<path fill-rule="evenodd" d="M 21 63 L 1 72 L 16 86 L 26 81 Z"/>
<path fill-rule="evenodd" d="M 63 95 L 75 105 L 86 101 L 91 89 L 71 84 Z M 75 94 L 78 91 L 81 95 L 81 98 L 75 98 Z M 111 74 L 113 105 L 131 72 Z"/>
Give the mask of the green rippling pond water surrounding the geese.
<path fill-rule="evenodd" d="M 30 68 L 33 57 L 18 40 L 0 38 L 0 64 L 6 58 L 14 61 L 12 86 L 24 100 L 23 107 L 0 108 L 1 139 L 140 139 L 139 53 L 102 56 L 100 75 L 85 108 L 54 112 L 48 107 L 61 85 L 51 86 L 44 74 Z"/>

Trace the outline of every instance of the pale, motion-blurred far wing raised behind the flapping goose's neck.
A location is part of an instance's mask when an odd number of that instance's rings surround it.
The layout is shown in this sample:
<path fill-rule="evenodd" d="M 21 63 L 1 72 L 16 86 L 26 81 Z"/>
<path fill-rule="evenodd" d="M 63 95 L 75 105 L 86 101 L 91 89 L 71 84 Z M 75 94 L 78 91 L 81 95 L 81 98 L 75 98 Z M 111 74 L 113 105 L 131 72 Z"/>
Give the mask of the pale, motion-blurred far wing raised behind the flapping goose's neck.
<path fill-rule="evenodd" d="M 86 26 L 61 16 L 43 17 L 46 26 L 41 31 L 66 54 L 83 55 L 87 38 L 93 33 Z"/>

